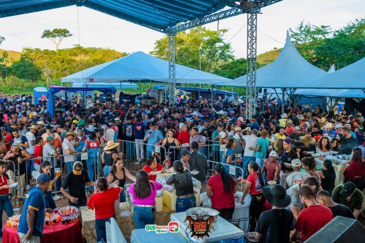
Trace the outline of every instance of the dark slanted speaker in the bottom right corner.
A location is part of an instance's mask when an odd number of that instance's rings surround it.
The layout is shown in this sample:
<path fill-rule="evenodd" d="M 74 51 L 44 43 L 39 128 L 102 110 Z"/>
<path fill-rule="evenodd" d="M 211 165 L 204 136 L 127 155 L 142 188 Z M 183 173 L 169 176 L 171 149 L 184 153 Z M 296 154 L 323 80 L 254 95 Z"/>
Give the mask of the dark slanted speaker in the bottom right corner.
<path fill-rule="evenodd" d="M 360 243 L 365 241 L 365 228 L 358 220 L 336 216 L 305 243 Z"/>

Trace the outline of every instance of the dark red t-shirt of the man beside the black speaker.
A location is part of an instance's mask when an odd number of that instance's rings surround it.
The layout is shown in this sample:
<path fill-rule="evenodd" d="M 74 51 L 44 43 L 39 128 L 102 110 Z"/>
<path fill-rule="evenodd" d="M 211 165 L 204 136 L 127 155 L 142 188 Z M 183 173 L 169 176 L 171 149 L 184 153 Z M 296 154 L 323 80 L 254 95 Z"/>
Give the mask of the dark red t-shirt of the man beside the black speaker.
<path fill-rule="evenodd" d="M 323 205 L 313 205 L 303 209 L 295 223 L 296 230 L 302 232 L 302 242 L 314 235 L 334 218 L 331 209 Z"/>

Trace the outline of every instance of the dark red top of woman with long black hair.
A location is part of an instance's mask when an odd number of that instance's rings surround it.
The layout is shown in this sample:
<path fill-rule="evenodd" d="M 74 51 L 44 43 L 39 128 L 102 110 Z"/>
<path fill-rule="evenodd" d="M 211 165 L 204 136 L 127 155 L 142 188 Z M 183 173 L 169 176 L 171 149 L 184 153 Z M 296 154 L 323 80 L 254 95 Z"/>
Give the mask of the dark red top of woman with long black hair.
<path fill-rule="evenodd" d="M 236 181 L 231 176 L 236 185 Z M 231 208 L 235 206 L 235 196 L 233 195 L 233 186 L 229 192 L 224 191 L 222 178 L 220 174 L 213 175 L 208 180 L 208 186 L 212 188 L 212 208 L 214 209 L 224 209 Z"/>

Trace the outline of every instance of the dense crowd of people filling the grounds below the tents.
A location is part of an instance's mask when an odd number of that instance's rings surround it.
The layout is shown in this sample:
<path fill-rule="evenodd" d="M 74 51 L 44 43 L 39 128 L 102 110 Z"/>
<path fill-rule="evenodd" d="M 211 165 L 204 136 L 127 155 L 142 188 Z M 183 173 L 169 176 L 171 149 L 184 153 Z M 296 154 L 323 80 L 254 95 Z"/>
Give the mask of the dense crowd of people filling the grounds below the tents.
<path fill-rule="evenodd" d="M 83 107 L 76 96 L 56 99 L 56 109 L 50 114 L 47 99 L 33 104 L 31 95 L 0 97 L 1 212 L 13 214 L 6 195 L 16 192 L 8 188 L 6 179 L 19 183 L 17 200 L 24 203 L 23 212 L 55 207 L 55 189 L 68 198 L 69 205 L 95 209 L 99 242 L 105 240 L 102 225 L 115 217 L 113 210 L 105 209 L 104 199 L 110 198 L 105 203 L 111 205 L 116 199 L 124 202 L 126 179 L 135 182 L 128 189 L 134 199 L 133 219 L 137 228 L 144 228 L 154 222 L 154 195 L 162 188 L 155 182 L 155 171 L 165 173 L 173 167 L 176 174 L 167 183 L 175 185 L 177 212 L 197 205 L 195 178 L 207 183 L 212 207 L 230 220 L 237 181 L 243 182 L 241 203 L 246 203 L 247 194 L 251 197 L 250 231 L 256 231 L 256 239 L 263 242 L 300 238 L 304 242 L 334 216 L 358 218 L 362 213 L 365 121 L 356 109 L 348 115 L 345 110 L 335 114 L 319 106 L 297 105 L 284 107 L 281 113 L 277 99 L 256 99 L 255 114 L 248 119 L 241 99 L 191 101 L 178 96 L 174 104 L 163 100 L 159 104 L 121 101 L 119 105 L 102 103 L 97 95 L 88 100 Z M 81 160 L 82 152 L 88 152 L 86 161 Z M 335 187 L 334 164 L 326 157 L 337 154 L 351 159 L 343 164 L 344 185 Z M 141 165 L 135 176 L 124 166 L 129 164 Z M 233 174 L 230 165 L 236 168 Z M 102 177 L 95 178 L 98 166 L 102 166 Z M 56 174 L 58 169 L 61 175 Z M 215 173 L 207 181 L 209 169 Z M 33 170 L 41 176 L 29 190 Z M 194 170 L 199 173 L 191 175 Z M 276 185 L 269 186 L 269 182 Z M 85 187 L 94 193 L 89 201 Z M 40 192 L 45 195 L 44 205 L 33 204 L 37 199 L 32 198 Z M 272 210 L 262 213 L 266 203 Z M 42 220 L 37 212 L 30 215 L 37 218 L 34 222 Z M 31 230 L 24 225 L 28 213 L 22 217 L 21 241 L 41 237 L 41 228 Z M 317 220 L 315 227 L 313 220 Z"/>

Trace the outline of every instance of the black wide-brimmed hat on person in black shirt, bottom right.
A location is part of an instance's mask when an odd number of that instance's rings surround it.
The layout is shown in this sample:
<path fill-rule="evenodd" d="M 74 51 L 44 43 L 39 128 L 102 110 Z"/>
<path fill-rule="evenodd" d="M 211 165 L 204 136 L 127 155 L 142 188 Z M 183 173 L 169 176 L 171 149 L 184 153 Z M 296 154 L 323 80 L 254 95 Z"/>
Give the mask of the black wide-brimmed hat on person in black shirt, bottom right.
<path fill-rule="evenodd" d="M 291 202 L 291 197 L 286 194 L 286 190 L 283 186 L 276 184 L 275 186 L 265 186 L 262 188 L 262 192 L 268 202 L 279 208 L 287 207 Z"/>

